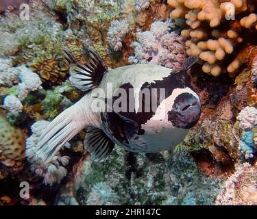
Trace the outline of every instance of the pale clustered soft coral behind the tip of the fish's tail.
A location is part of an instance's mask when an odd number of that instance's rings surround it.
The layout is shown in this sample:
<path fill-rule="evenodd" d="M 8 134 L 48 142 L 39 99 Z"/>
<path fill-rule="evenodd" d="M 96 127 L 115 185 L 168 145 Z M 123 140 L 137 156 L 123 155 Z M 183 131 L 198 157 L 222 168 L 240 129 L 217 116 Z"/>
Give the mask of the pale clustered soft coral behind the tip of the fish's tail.
<path fill-rule="evenodd" d="M 62 179 L 66 176 L 67 170 L 64 168 L 69 164 L 68 156 L 60 156 L 60 154 L 53 157 L 53 160 L 45 165 L 38 159 L 36 155 L 37 143 L 41 136 L 42 131 L 45 129 L 50 122 L 45 120 L 40 120 L 32 125 L 32 136 L 30 136 L 26 141 L 26 157 L 29 162 L 32 163 L 31 169 L 36 172 L 36 175 L 43 177 L 43 183 L 45 185 L 53 185 L 53 183 L 60 183 Z"/>

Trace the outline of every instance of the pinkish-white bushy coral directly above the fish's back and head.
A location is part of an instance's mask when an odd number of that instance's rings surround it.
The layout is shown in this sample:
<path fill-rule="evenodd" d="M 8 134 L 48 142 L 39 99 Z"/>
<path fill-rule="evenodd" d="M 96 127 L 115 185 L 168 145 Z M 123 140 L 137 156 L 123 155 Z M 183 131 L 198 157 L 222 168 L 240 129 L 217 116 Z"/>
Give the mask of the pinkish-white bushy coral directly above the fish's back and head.
<path fill-rule="evenodd" d="M 129 57 L 131 63 L 154 63 L 178 69 L 186 58 L 185 38 L 169 33 L 174 27 L 170 21 L 156 21 L 149 31 L 139 32 L 138 42 L 133 42 L 135 55 Z"/>

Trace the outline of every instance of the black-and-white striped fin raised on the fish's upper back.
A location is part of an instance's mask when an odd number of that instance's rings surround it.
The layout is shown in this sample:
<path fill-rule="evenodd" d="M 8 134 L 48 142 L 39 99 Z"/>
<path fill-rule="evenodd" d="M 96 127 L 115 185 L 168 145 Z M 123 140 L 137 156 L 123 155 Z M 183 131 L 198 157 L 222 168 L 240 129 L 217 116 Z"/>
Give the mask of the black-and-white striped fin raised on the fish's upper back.
<path fill-rule="evenodd" d="M 70 64 L 71 77 L 69 79 L 76 88 L 89 91 L 99 85 L 106 68 L 101 57 L 94 49 L 88 48 L 89 60 L 87 64 L 79 64 L 69 49 L 65 48 L 64 53 L 67 62 Z"/>

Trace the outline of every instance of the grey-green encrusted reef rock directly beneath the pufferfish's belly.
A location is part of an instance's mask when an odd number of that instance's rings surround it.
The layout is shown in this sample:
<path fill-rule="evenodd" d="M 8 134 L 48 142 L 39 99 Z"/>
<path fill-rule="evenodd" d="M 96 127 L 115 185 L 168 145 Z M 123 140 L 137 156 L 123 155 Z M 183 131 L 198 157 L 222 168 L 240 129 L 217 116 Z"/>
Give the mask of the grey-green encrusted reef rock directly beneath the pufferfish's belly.
<path fill-rule="evenodd" d="M 103 164 L 79 165 L 79 177 L 68 185 L 80 205 L 210 205 L 219 192 L 219 180 L 199 172 L 188 151 L 145 155 L 117 146 Z"/>

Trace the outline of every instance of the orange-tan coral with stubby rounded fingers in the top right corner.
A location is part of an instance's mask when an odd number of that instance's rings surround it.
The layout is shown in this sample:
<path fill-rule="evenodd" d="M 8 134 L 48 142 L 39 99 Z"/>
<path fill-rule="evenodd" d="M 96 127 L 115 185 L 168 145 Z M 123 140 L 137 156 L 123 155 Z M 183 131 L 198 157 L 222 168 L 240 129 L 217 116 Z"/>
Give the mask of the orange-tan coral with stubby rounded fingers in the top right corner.
<path fill-rule="evenodd" d="M 168 3 L 175 8 L 170 14 L 171 18 L 186 20 L 189 29 L 181 33 L 188 38 L 186 53 L 199 55 L 204 61 L 204 73 L 217 76 L 228 72 L 234 76 L 242 62 L 236 58 L 228 65 L 226 58 L 234 57 L 235 49 L 247 43 L 249 36 L 244 39 L 242 29 L 257 23 L 256 14 L 250 14 L 254 10 L 253 3 L 247 5 L 246 0 L 169 0 Z M 242 18 L 241 14 L 245 12 L 249 16 Z M 238 18 L 241 18 L 240 23 Z M 204 23 L 208 23 L 209 27 Z"/>

